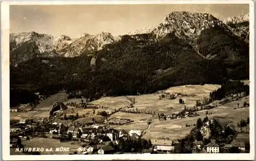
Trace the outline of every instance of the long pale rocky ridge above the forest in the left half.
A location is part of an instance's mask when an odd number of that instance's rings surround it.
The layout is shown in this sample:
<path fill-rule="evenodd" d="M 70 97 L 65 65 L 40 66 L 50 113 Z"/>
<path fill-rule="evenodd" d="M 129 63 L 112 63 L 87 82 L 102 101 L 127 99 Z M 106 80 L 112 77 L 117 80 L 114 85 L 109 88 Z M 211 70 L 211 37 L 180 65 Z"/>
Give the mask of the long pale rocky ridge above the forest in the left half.
<path fill-rule="evenodd" d="M 33 57 L 75 57 L 91 54 L 120 38 L 105 32 L 97 35 L 84 33 L 74 40 L 66 35 L 54 37 L 36 32 L 10 34 L 11 63 L 15 65 Z"/>

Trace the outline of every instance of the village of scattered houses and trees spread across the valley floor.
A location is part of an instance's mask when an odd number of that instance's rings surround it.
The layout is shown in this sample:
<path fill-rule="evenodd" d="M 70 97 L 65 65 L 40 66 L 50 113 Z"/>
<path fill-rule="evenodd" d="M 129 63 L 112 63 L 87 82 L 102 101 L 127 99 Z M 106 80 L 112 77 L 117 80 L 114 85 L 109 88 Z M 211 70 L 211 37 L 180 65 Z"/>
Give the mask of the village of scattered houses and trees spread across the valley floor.
<path fill-rule="evenodd" d="M 109 110 L 108 107 L 95 103 L 87 103 L 87 100 L 80 102 L 54 102 L 53 106 L 66 106 L 67 110 L 75 109 L 91 110 L 88 114 L 66 114 L 65 110 L 59 108 L 54 112 L 61 111 L 62 117 L 53 115 L 51 119 L 35 118 L 23 119 L 19 121 L 10 120 L 10 151 L 15 151 L 16 148 L 29 147 L 29 145 L 37 144 L 40 140 L 49 140 L 54 145 L 68 144 L 74 147 L 73 152 L 67 154 L 122 154 L 122 153 L 179 153 L 181 139 L 169 139 L 168 137 L 156 138 L 152 136 L 154 128 L 163 122 L 163 125 L 172 125 L 172 121 L 184 122 L 184 129 L 197 128 L 195 121 L 205 117 L 214 120 L 214 110 L 225 104 L 242 101 L 229 111 L 241 111 L 240 109 L 248 109 L 248 96 L 245 92 L 226 96 L 222 100 L 208 102 L 209 98 L 203 97 L 201 100 L 196 100 L 194 106 L 186 106 L 186 97 L 192 97 L 190 94 L 182 93 L 164 93 L 158 94 L 160 101 L 176 100 L 179 106 L 184 106 L 178 112 L 165 114 L 164 112 L 156 112 L 153 110 L 140 110 L 137 108 L 136 99 L 126 99 L 127 106 L 118 107 L 114 110 Z M 173 108 L 172 108 L 173 109 Z M 12 107 L 10 113 L 20 112 L 19 107 Z M 54 113 L 53 112 L 53 113 Z M 74 112 L 74 111 L 73 111 Z M 79 111 L 78 111 L 79 112 Z M 120 117 L 118 113 L 127 113 L 127 116 Z M 91 121 L 86 123 L 77 122 L 78 119 L 87 119 L 90 114 L 101 116 L 98 120 L 96 117 L 91 117 Z M 129 113 L 137 117 L 137 114 L 145 114 L 146 119 L 127 118 Z M 217 113 L 216 116 L 219 114 Z M 92 115 L 95 116 L 95 115 Z M 138 115 L 139 116 L 139 115 Z M 193 119 L 188 123 L 186 119 Z M 234 125 L 231 121 L 227 125 L 233 133 L 230 134 L 228 142 L 217 143 L 215 139 L 208 142 L 195 139 L 190 147 L 192 153 L 232 153 L 232 152 L 247 152 L 249 142 L 249 120 L 244 118 L 239 125 Z M 246 120 L 247 119 L 247 120 Z M 66 122 L 65 122 L 66 121 Z M 170 122 L 171 121 L 171 122 Z M 240 121 L 240 120 L 239 120 Z M 169 122 L 169 123 L 168 123 Z M 193 123 L 194 122 L 194 123 Z M 68 123 L 68 124 L 67 124 Z M 136 128 L 136 125 L 142 125 L 143 128 Z M 207 122 L 205 122 L 207 124 Z M 132 128 L 130 128 L 130 126 Z M 129 127 L 129 128 L 128 128 Z M 224 130 L 225 131 L 225 130 Z M 189 133 L 189 132 L 188 132 Z M 168 133 L 166 133 L 168 136 Z M 127 144 L 127 142 L 133 144 Z M 22 152 L 23 154 L 28 152 Z M 54 154 L 54 153 L 52 153 Z"/>

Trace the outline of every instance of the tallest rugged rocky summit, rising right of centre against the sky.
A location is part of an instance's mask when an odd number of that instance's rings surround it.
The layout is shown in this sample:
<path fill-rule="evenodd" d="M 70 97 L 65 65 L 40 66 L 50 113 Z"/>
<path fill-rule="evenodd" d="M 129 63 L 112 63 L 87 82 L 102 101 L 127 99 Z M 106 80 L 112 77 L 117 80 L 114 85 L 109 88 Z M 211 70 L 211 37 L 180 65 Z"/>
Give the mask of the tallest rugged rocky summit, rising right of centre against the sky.
<path fill-rule="evenodd" d="M 179 38 L 193 40 L 202 30 L 224 27 L 221 20 L 207 13 L 197 12 L 171 12 L 155 27 L 153 33 L 161 38 L 168 33 L 175 33 Z"/>

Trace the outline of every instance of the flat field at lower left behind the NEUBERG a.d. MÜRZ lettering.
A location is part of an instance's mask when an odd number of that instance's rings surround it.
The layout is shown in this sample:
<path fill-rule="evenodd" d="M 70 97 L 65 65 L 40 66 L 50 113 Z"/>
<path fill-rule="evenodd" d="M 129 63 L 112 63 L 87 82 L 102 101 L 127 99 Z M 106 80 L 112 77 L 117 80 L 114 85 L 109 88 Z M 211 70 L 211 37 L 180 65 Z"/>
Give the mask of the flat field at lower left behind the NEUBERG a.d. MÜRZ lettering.
<path fill-rule="evenodd" d="M 44 144 L 42 144 L 44 143 Z M 40 154 L 45 154 L 45 155 L 51 155 L 51 154 L 69 154 L 69 153 L 74 153 L 75 151 L 78 152 L 78 148 L 81 147 L 81 145 L 77 144 L 72 144 L 71 142 L 60 142 L 57 139 L 48 139 L 48 138 L 41 138 L 41 137 L 35 137 L 32 138 L 28 141 L 23 141 L 22 144 L 24 145 L 25 148 L 52 148 L 52 152 L 47 152 L 44 150 L 44 152 L 40 152 Z M 70 151 L 66 152 L 57 152 L 55 151 L 56 148 L 59 147 L 69 147 Z M 15 149 L 11 148 L 11 155 L 15 154 Z"/>

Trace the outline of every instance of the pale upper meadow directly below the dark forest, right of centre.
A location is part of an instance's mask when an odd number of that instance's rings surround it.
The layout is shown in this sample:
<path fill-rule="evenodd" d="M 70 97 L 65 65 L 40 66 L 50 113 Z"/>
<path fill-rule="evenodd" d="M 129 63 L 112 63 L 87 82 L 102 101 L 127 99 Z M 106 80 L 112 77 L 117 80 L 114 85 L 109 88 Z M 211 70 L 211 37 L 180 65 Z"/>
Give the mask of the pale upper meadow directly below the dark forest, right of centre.
<path fill-rule="evenodd" d="M 215 89 L 218 89 L 221 85 L 217 84 L 205 84 L 205 85 L 183 85 L 170 87 L 164 90 L 167 93 L 182 93 L 194 96 L 182 96 L 177 97 L 174 100 L 159 99 L 159 94 L 148 94 L 141 96 L 128 96 L 129 98 L 135 98 L 134 108 L 141 111 L 155 111 L 156 113 L 164 112 L 165 114 L 171 114 L 178 112 L 186 108 L 192 108 L 196 104 L 196 100 L 203 100 L 203 97 L 208 97 L 209 93 Z M 179 103 L 179 99 L 184 100 L 184 104 Z"/>

